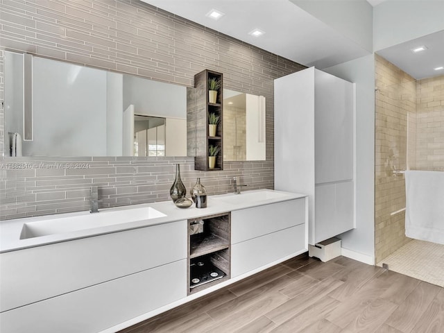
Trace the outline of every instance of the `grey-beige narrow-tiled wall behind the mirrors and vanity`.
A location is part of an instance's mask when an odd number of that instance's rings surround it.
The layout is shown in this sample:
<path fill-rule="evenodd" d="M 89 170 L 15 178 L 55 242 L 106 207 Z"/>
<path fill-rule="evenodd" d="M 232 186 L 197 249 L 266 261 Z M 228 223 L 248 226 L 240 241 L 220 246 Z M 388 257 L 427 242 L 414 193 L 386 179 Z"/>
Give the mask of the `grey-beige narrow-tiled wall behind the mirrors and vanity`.
<path fill-rule="evenodd" d="M 209 194 L 225 193 L 232 176 L 249 189 L 273 188 L 273 80 L 302 65 L 137 0 L 0 0 L 0 24 L 1 50 L 188 87 L 203 69 L 221 71 L 225 87 L 266 97 L 267 140 L 266 161 L 229 162 L 217 172 L 194 171 L 192 157 L 4 158 L 0 219 L 87 210 L 92 185 L 100 207 L 167 200 L 176 163 L 188 189 L 201 177 Z M 0 94 L 3 100 L 2 51 Z M 2 155 L 3 119 L 2 108 Z"/>

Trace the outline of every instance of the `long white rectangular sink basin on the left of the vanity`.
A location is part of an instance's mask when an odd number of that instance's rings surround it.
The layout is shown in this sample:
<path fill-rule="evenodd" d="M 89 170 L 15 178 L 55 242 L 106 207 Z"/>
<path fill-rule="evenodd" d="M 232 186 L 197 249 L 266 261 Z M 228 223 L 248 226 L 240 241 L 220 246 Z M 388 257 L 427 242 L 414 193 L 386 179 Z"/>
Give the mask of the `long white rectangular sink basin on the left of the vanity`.
<path fill-rule="evenodd" d="M 20 239 L 64 234 L 66 232 L 100 228 L 107 225 L 143 221 L 167 216 L 152 207 L 85 213 L 79 216 L 60 217 L 24 223 Z"/>

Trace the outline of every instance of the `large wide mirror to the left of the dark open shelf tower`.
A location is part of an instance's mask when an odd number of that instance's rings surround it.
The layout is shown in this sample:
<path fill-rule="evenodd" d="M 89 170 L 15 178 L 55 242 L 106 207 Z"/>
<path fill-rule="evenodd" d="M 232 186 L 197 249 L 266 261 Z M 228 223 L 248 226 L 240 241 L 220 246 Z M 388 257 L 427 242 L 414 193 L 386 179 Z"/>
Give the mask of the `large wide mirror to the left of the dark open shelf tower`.
<path fill-rule="evenodd" d="M 187 155 L 190 88 L 9 51 L 4 84 L 6 155 Z M 164 119 L 154 144 L 144 116 Z"/>

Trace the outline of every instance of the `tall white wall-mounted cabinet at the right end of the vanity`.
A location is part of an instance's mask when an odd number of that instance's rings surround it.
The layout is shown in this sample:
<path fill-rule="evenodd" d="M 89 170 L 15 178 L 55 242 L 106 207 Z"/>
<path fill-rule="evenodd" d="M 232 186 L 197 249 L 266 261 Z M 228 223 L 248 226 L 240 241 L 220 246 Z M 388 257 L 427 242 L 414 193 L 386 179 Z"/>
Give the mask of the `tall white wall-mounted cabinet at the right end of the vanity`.
<path fill-rule="evenodd" d="M 311 245 L 355 228 L 355 85 L 314 67 L 275 80 L 275 189 L 309 195 Z"/>

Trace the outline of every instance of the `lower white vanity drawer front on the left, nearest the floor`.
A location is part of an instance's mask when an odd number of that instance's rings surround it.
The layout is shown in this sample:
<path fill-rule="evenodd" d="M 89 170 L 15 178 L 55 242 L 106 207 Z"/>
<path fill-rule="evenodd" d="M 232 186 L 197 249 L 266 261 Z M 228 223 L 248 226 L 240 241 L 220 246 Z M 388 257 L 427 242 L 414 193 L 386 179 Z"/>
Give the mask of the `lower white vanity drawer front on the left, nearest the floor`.
<path fill-rule="evenodd" d="M 186 262 L 182 259 L 3 312 L 0 314 L 0 332 L 101 332 L 185 298 Z M 38 288 L 38 284 L 35 287 Z"/>

